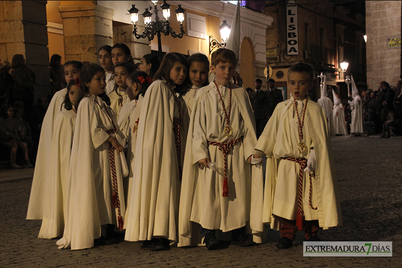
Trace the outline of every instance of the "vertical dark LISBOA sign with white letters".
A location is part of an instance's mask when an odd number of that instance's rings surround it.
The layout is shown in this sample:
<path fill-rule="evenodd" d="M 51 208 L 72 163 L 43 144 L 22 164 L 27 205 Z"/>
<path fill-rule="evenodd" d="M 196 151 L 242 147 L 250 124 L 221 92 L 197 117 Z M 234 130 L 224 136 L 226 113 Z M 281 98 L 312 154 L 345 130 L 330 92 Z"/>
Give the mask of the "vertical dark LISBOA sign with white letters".
<path fill-rule="evenodd" d="M 287 55 L 298 55 L 298 28 L 296 1 L 286 4 L 286 42 Z"/>

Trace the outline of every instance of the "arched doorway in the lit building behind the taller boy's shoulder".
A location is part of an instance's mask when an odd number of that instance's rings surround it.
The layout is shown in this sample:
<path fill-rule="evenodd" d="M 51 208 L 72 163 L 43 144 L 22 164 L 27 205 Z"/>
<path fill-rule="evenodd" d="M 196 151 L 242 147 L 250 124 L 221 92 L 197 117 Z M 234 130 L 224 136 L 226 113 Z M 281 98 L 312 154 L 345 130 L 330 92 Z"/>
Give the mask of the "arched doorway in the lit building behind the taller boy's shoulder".
<path fill-rule="evenodd" d="M 248 37 L 242 41 L 240 59 L 240 76 L 243 79 L 243 87 L 254 88 L 253 61 L 255 60 L 255 53 L 253 42 Z"/>

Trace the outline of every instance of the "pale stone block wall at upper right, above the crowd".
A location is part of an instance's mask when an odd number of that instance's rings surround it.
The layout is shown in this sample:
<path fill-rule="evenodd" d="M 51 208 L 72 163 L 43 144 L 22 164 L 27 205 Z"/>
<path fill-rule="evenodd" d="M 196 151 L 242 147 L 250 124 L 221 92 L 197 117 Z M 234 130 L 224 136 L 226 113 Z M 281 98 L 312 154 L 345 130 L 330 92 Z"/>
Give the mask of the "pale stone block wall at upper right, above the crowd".
<path fill-rule="evenodd" d="M 400 80 L 400 47 L 388 49 L 387 38 L 400 36 L 400 1 L 366 1 L 367 85 Z"/>

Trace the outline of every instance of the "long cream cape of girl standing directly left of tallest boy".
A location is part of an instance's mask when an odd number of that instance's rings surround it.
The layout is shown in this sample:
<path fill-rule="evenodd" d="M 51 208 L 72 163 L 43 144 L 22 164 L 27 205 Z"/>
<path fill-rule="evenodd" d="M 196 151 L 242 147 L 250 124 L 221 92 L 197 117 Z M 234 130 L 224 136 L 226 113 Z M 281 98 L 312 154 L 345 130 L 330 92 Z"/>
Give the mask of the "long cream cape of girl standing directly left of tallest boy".
<path fill-rule="evenodd" d="M 150 240 L 155 236 L 177 239 L 180 174 L 173 118 L 180 115 L 173 94 L 165 81 L 156 80 L 148 87 L 142 102 L 134 157 L 135 182 L 126 214 L 128 241 Z M 183 149 L 181 161 L 182 155 Z"/>

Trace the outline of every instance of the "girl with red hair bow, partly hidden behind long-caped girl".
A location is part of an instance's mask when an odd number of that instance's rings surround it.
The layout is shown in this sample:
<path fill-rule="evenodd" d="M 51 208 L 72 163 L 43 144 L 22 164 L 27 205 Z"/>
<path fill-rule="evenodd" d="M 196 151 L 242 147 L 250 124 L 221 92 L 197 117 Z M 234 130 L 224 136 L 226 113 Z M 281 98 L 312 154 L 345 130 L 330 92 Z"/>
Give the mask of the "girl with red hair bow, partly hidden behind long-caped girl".
<path fill-rule="evenodd" d="M 143 71 L 136 71 L 127 77 L 127 95 L 131 102 L 125 104 L 120 111 L 117 123 L 123 132 L 126 147 L 129 175 L 124 180 L 124 193 L 126 204 L 130 204 L 131 189 L 134 182 L 134 157 L 137 143 L 138 123 L 140 120 L 141 104 L 145 92 L 151 84 L 151 77 Z M 126 210 L 126 213 L 128 208 Z"/>

